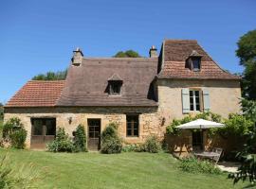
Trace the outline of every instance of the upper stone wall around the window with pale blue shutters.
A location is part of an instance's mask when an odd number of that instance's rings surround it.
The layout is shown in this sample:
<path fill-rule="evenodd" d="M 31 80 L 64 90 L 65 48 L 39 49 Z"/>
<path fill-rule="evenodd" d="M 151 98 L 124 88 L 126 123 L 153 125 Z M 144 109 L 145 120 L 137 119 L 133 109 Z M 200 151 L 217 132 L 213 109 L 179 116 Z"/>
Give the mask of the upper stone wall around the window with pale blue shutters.
<path fill-rule="evenodd" d="M 174 80 L 157 81 L 159 110 L 169 124 L 174 118 L 180 119 L 187 114 L 182 112 L 182 88 L 207 87 L 210 92 L 210 112 L 228 117 L 231 112 L 241 112 L 240 83 L 237 80 Z"/>

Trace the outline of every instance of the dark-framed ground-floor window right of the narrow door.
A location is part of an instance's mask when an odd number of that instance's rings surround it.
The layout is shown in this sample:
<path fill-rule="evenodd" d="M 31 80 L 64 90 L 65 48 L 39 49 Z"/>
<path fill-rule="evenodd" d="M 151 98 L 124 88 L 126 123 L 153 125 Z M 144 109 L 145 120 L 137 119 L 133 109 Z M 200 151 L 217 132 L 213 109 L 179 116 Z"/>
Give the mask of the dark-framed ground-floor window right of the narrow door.
<path fill-rule="evenodd" d="M 126 135 L 138 137 L 138 115 L 126 115 Z"/>

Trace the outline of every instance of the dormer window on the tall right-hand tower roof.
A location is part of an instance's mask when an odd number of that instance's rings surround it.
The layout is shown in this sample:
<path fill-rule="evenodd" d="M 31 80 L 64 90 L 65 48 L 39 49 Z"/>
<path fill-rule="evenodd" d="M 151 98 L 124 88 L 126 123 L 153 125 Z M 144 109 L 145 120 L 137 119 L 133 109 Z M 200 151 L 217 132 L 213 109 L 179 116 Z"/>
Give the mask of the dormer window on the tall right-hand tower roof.
<path fill-rule="evenodd" d="M 201 69 L 201 58 L 202 58 L 202 56 L 200 56 L 195 50 L 193 50 L 192 54 L 190 55 L 190 57 L 186 61 L 186 66 L 185 67 L 191 69 L 194 72 L 200 71 L 200 69 Z"/>

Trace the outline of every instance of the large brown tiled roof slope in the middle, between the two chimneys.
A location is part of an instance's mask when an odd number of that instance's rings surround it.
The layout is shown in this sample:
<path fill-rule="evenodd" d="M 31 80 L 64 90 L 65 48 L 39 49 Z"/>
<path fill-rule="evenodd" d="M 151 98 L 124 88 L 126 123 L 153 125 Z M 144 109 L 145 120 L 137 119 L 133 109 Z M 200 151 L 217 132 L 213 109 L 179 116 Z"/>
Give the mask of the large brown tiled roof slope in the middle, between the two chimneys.
<path fill-rule="evenodd" d="M 58 106 L 157 106 L 152 82 L 158 59 L 109 58 L 83 59 L 70 66 Z M 121 95 L 108 94 L 108 79 L 118 75 Z"/>

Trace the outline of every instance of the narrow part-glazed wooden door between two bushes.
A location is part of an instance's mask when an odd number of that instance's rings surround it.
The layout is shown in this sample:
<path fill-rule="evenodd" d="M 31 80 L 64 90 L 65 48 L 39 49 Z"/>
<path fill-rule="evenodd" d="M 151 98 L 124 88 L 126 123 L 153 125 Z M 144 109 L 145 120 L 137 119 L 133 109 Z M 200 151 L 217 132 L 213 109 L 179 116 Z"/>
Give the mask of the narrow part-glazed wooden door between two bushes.
<path fill-rule="evenodd" d="M 88 119 L 88 149 L 99 150 L 101 148 L 101 119 Z"/>

